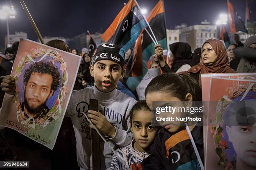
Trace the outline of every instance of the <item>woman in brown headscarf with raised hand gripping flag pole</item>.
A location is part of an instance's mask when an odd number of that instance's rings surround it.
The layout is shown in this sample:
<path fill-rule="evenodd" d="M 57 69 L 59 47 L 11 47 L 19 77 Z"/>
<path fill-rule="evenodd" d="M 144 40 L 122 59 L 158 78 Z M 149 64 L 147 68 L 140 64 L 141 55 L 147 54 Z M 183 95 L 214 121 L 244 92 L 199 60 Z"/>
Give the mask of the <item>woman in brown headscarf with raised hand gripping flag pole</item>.
<path fill-rule="evenodd" d="M 161 69 L 166 67 L 161 59 L 161 47 L 155 46 L 156 55 L 159 56 Z M 171 72 L 167 70 L 167 72 Z M 236 72 L 230 68 L 228 54 L 223 42 L 216 39 L 206 40 L 201 49 L 201 61 L 199 64 L 191 67 L 189 70 L 179 72 L 179 74 L 189 75 L 199 82 L 201 87 L 201 74 L 205 73 L 229 73 Z"/>

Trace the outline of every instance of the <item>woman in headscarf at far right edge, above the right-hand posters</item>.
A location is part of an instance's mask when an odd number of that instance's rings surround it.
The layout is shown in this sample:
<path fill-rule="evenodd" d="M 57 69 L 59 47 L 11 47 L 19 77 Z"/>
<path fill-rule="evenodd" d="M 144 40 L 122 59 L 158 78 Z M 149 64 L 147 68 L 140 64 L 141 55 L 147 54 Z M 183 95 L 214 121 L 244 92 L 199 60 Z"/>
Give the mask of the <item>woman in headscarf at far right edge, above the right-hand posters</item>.
<path fill-rule="evenodd" d="M 234 53 L 241 58 L 237 72 L 256 72 L 256 35 L 249 37 L 244 47 L 237 47 Z"/>

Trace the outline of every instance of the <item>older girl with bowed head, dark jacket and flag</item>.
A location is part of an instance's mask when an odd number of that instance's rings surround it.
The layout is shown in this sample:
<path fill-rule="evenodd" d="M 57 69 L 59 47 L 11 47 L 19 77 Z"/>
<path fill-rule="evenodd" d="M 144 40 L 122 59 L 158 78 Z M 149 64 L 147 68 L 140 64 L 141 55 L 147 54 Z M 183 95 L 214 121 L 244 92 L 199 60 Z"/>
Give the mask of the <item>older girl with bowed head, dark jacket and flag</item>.
<path fill-rule="evenodd" d="M 155 77 L 145 90 L 146 103 L 154 110 L 153 101 L 191 103 L 202 100 L 200 86 L 192 77 L 165 73 Z M 155 107 L 155 106 L 154 106 Z M 161 106 L 164 107 L 164 106 Z M 189 106 L 190 107 L 190 106 Z M 163 116 L 166 113 L 159 115 Z M 172 115 L 168 113 L 169 116 Z M 176 114 L 176 115 L 175 115 Z M 157 115 L 157 116 L 159 116 Z M 181 116 L 175 112 L 175 116 Z M 172 117 L 174 116 L 172 115 Z M 191 115 L 190 113 L 188 115 Z M 202 126 L 187 122 L 158 121 L 159 130 L 150 147 L 150 156 L 143 161 L 143 170 L 200 170 L 203 169 Z M 178 123 L 177 123 L 178 122 Z M 197 122 L 198 124 L 198 122 Z M 191 135 L 192 136 L 189 136 Z M 194 142 L 194 143 L 193 143 Z"/>

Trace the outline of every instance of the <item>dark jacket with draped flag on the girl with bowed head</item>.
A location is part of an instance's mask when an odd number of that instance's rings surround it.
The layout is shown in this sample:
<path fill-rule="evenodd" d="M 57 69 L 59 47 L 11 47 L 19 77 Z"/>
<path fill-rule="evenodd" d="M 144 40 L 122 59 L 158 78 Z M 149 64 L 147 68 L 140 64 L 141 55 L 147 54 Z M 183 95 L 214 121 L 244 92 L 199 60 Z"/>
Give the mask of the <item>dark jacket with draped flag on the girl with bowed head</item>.
<path fill-rule="evenodd" d="M 187 130 L 181 130 L 169 133 L 165 129 L 159 130 L 150 147 L 151 154 L 142 163 L 143 170 L 200 170 L 195 150 L 186 132 Z M 195 126 L 191 133 L 203 161 L 202 126 Z"/>

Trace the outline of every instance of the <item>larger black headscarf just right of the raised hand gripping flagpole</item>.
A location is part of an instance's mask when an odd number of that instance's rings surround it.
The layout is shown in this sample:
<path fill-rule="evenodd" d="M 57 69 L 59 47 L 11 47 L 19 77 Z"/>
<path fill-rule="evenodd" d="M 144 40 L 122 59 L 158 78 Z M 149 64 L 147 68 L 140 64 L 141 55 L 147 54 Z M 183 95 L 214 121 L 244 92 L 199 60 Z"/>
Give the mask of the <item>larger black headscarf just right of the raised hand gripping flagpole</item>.
<path fill-rule="evenodd" d="M 176 72 L 182 65 L 188 64 L 191 66 L 190 59 L 192 58 L 191 47 L 186 42 L 175 42 L 170 46 L 170 50 L 174 55 L 172 71 Z"/>

